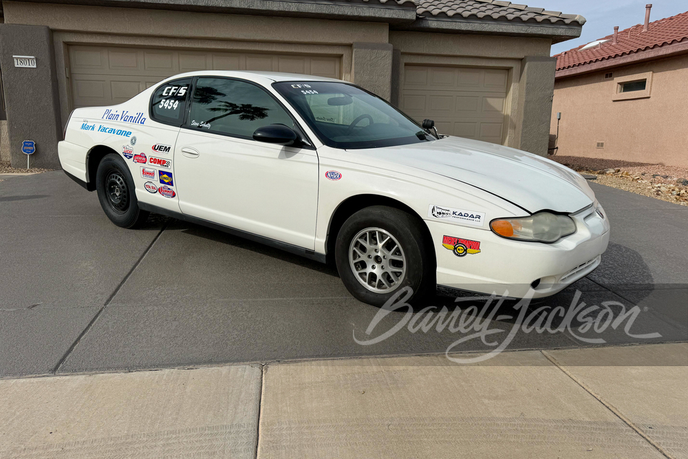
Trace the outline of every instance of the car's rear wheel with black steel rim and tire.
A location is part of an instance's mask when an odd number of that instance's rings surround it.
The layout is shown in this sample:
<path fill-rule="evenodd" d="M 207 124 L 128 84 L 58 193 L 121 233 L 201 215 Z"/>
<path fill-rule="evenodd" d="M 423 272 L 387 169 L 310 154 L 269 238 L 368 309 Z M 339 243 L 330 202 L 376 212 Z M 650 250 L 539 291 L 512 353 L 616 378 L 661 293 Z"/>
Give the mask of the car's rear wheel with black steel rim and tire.
<path fill-rule="evenodd" d="M 129 167 L 116 153 L 98 164 L 96 191 L 105 215 L 117 226 L 138 228 L 148 218 L 149 213 L 138 206 Z"/>

